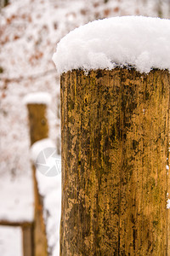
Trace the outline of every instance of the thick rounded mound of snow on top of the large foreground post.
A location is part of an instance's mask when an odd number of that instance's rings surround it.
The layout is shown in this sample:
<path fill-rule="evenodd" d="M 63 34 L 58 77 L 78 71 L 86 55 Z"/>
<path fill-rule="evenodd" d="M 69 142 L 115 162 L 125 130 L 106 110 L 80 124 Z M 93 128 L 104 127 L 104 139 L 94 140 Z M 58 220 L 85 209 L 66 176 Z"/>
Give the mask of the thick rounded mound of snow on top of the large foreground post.
<path fill-rule="evenodd" d="M 53 55 L 59 73 L 135 67 L 170 70 L 170 20 L 122 16 L 95 20 L 62 38 Z"/>

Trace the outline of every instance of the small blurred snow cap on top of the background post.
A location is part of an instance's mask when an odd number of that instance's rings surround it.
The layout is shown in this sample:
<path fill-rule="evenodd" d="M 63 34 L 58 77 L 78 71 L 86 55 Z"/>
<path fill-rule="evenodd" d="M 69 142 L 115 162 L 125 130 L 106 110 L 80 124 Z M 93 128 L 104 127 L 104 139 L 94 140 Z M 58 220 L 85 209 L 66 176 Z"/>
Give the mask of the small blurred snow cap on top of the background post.
<path fill-rule="evenodd" d="M 49 105 L 51 102 L 51 96 L 48 92 L 34 92 L 27 94 L 24 99 L 23 103 L 25 104 L 45 104 Z"/>

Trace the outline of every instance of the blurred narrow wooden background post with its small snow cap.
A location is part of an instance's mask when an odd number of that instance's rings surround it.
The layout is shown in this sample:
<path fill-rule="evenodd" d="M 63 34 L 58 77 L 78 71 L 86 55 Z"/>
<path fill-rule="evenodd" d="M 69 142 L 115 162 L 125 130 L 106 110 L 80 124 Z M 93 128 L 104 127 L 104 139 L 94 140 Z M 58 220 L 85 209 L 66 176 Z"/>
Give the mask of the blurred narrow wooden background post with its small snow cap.
<path fill-rule="evenodd" d="M 45 100 L 44 100 L 45 98 Z M 42 102 L 41 102 L 42 99 Z M 47 102 L 46 102 L 47 101 Z M 26 105 L 28 108 L 31 145 L 39 140 L 48 137 L 48 119 L 47 103 L 49 96 L 46 93 L 31 94 L 26 96 Z M 45 224 L 42 212 L 42 197 L 37 188 L 36 168 L 32 166 L 34 180 L 34 198 L 35 198 L 35 223 L 34 223 L 34 255 L 47 256 L 48 243 L 46 237 Z"/>

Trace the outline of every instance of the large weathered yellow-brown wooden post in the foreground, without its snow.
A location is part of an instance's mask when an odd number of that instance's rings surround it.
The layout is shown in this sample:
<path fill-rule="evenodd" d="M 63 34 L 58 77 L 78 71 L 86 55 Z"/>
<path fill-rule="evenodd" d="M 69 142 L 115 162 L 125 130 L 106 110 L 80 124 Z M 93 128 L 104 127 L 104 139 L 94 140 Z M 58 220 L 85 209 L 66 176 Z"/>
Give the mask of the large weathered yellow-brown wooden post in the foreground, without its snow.
<path fill-rule="evenodd" d="M 60 255 L 170 255 L 169 91 L 167 71 L 62 74 Z"/>

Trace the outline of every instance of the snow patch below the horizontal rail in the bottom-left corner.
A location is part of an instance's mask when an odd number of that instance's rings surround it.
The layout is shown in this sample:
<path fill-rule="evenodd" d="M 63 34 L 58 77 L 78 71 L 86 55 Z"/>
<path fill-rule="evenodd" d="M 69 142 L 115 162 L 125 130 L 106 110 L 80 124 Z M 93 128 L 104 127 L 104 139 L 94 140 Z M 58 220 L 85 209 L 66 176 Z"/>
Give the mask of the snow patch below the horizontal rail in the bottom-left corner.
<path fill-rule="evenodd" d="M 0 255 L 23 256 L 22 230 L 20 228 L 0 226 Z"/>

